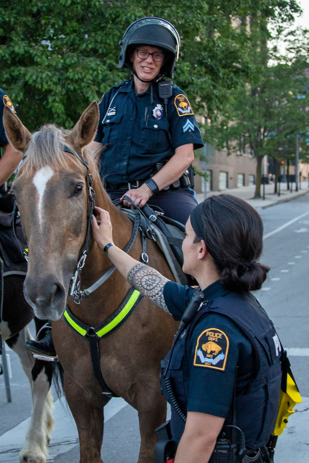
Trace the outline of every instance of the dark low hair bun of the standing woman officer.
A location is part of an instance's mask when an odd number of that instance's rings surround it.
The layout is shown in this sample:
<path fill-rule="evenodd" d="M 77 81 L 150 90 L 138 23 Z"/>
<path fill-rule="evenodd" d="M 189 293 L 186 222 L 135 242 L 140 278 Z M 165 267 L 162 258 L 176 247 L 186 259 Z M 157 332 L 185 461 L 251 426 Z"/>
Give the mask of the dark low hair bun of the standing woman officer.
<path fill-rule="evenodd" d="M 225 267 L 221 272 L 223 286 L 230 291 L 243 293 L 260 289 L 266 280 L 269 267 L 252 262 L 238 267 Z"/>

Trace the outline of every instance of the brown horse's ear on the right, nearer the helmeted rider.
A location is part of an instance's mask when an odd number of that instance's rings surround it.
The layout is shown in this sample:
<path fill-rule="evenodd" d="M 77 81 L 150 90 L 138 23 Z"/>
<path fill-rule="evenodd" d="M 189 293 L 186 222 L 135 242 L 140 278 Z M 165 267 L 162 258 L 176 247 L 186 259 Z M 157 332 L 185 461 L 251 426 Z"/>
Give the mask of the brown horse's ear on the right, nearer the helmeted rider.
<path fill-rule="evenodd" d="M 73 146 L 78 145 L 82 148 L 88 145 L 95 138 L 98 123 L 99 106 L 96 101 L 93 101 L 82 113 L 76 125 L 74 125 L 68 139 Z"/>

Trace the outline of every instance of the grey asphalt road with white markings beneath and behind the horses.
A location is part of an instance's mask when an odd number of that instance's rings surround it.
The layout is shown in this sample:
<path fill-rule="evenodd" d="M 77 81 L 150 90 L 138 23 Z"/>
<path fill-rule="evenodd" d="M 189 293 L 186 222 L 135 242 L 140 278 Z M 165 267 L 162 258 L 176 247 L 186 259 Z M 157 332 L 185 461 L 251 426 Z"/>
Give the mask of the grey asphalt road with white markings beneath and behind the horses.
<path fill-rule="evenodd" d="M 261 262 L 271 270 L 263 288 L 256 293 L 273 320 L 288 349 L 292 370 L 303 403 L 296 406 L 288 429 L 279 437 L 275 463 L 309 461 L 309 194 L 297 200 L 259 210 L 265 227 Z M 308 214 L 306 214 L 308 213 Z M 304 215 L 306 214 L 306 215 Z M 300 217 L 303 216 L 303 217 Z M 298 219 L 296 219 L 298 218 Z M 290 223 L 293 219 L 294 222 Z M 289 224 L 285 227 L 284 225 Z M 279 230 L 278 230 L 279 229 Z M 278 230 L 278 231 L 277 231 Z M 271 232 L 275 233 L 269 234 Z M 0 376 L 0 463 L 18 462 L 31 413 L 27 378 L 18 357 L 10 355 L 13 402 L 6 403 L 3 376 Z M 56 394 L 54 394 L 55 399 Z M 56 428 L 50 443 L 55 463 L 79 462 L 77 430 L 65 403 L 55 402 Z M 134 463 L 139 453 L 137 412 L 122 399 L 112 399 L 105 407 L 104 463 Z"/>

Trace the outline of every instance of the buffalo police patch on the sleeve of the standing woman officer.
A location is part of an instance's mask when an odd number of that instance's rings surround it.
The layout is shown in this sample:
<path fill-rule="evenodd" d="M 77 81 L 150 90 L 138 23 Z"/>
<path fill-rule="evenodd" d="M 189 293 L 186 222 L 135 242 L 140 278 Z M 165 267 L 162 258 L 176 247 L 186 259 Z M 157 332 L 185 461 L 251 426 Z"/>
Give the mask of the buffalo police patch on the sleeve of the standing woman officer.
<path fill-rule="evenodd" d="M 208 328 L 197 338 L 193 364 L 196 367 L 225 370 L 229 341 L 218 328 Z"/>

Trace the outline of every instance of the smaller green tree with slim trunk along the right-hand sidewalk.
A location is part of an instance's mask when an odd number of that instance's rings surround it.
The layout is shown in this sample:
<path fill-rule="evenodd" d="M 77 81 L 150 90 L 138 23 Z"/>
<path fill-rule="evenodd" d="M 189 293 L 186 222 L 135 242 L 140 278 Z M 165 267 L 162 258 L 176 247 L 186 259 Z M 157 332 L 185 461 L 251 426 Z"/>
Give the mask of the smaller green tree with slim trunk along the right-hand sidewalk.
<path fill-rule="evenodd" d="M 300 31 L 298 31 L 300 32 Z M 225 114 L 206 126 L 206 137 L 217 147 L 239 154 L 251 152 L 257 158 L 256 191 L 260 197 L 262 158 L 273 157 L 275 165 L 283 159 L 295 159 L 296 133 L 300 138 L 300 158 L 308 160 L 305 134 L 309 130 L 309 80 L 307 31 L 303 38 L 294 34 L 287 38 L 288 53 L 276 58 L 272 66 L 252 85 L 244 81 L 230 95 Z M 303 45 L 303 46 L 302 46 Z M 276 50 L 275 50 L 276 51 Z M 260 51 L 255 50 L 260 57 Z M 307 53 L 307 54 L 306 54 Z M 269 55 L 268 55 L 269 56 Z"/>

